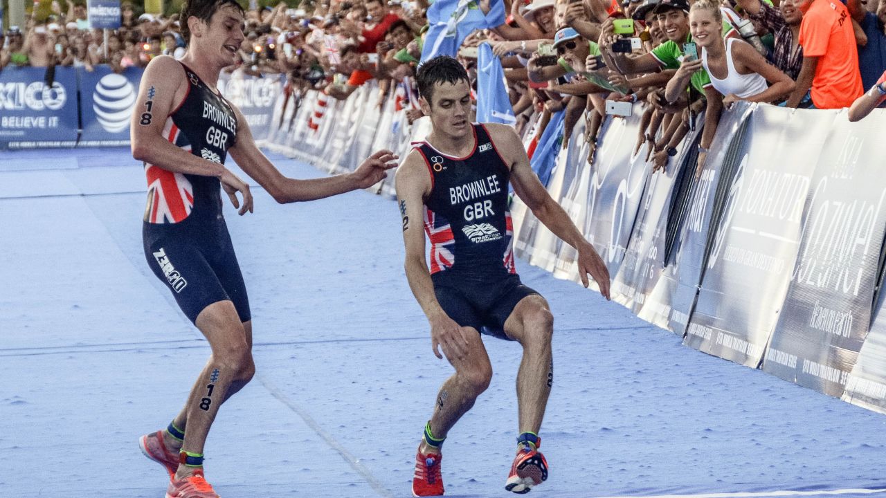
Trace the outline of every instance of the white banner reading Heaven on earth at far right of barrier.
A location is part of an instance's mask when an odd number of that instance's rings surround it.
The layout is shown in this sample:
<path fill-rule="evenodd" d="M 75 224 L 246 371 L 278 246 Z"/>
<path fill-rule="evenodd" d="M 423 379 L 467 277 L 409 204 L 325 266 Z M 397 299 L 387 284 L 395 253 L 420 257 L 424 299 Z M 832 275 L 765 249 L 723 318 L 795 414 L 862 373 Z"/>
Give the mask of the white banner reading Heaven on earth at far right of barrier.
<path fill-rule="evenodd" d="M 839 397 L 871 323 L 886 230 L 886 183 L 869 162 L 882 149 L 882 128 L 846 122 L 841 111 L 804 118 L 831 132 L 812 175 L 797 264 L 763 370 Z"/>

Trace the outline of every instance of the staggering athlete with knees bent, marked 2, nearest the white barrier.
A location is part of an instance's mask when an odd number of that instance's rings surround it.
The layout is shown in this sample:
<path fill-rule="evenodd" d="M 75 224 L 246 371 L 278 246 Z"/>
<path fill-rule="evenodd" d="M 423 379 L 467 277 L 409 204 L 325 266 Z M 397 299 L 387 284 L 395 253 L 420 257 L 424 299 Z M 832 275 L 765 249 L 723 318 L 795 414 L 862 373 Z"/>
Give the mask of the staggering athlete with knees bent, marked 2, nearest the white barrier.
<path fill-rule="evenodd" d="M 412 492 L 443 494 L 440 447 L 492 378 L 482 330 L 523 346 L 517 373 L 517 456 L 505 489 L 527 493 L 548 479 L 538 433 L 554 376 L 554 320 L 548 302 L 521 284 L 514 269 L 509 183 L 540 222 L 578 250 L 582 283 L 587 286 L 590 274 L 607 299 L 609 272 L 532 173 L 513 128 L 469 121 L 470 82 L 455 58 L 424 62 L 416 80 L 432 130 L 397 173 L 406 274 L 431 323 L 431 348 L 442 358 L 442 346 L 455 374 L 440 388 L 424 427 Z M 431 239 L 430 269 L 424 256 L 425 233 Z"/>

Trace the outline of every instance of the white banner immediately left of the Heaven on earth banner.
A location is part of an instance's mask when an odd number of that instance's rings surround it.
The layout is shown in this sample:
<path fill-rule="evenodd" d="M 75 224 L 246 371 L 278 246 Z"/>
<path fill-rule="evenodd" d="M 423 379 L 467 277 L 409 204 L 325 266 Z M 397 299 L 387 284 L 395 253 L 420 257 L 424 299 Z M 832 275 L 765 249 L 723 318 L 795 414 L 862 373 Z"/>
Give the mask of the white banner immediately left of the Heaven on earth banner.
<path fill-rule="evenodd" d="M 684 344 L 757 368 L 797 261 L 806 196 L 833 120 L 751 114 Z M 785 147 L 784 144 L 796 144 Z"/>

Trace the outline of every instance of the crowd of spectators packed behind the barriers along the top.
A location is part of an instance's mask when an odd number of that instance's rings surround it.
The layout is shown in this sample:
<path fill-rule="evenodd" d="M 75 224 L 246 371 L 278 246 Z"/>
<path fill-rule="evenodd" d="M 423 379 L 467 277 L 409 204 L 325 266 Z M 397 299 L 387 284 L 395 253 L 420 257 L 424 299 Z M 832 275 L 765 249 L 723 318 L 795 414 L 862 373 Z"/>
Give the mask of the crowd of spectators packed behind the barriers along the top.
<path fill-rule="evenodd" d="M 472 0 L 483 12 L 490 0 Z M 501 58 L 509 99 L 524 128 L 540 114 L 565 112 L 565 146 L 585 116 L 595 136 L 608 102 L 642 106 L 637 146 L 649 143 L 656 168 L 706 109 L 699 152 L 711 145 L 720 110 L 738 100 L 789 107 L 848 107 L 886 70 L 886 0 L 503 0 L 506 21 L 475 31 L 458 57 L 477 74 L 477 47 Z M 377 80 L 378 104 L 405 86 L 414 95 L 427 32 L 428 0 L 320 0 L 246 12 L 240 61 L 231 70 L 286 74 L 287 91 L 322 89 L 338 99 Z M 46 19 L 11 27 L 6 66 L 145 66 L 179 58 L 185 41 L 177 14 L 139 13 L 122 4 L 121 27 L 89 29 L 84 4 L 53 2 Z M 410 119 L 421 115 L 408 106 Z M 591 154 L 594 153 L 592 146 Z"/>

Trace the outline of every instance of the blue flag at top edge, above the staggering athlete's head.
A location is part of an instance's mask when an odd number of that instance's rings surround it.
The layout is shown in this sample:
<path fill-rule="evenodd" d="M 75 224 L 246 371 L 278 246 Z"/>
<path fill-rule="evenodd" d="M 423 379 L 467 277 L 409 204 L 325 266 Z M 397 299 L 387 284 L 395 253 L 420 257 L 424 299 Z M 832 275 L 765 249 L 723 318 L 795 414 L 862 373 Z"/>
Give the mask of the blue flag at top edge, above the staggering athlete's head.
<path fill-rule="evenodd" d="M 489 13 L 478 0 L 437 0 L 428 8 L 428 34 L 424 37 L 422 62 L 439 55 L 455 57 L 465 38 L 477 29 L 504 24 L 503 0 L 490 0 Z"/>

